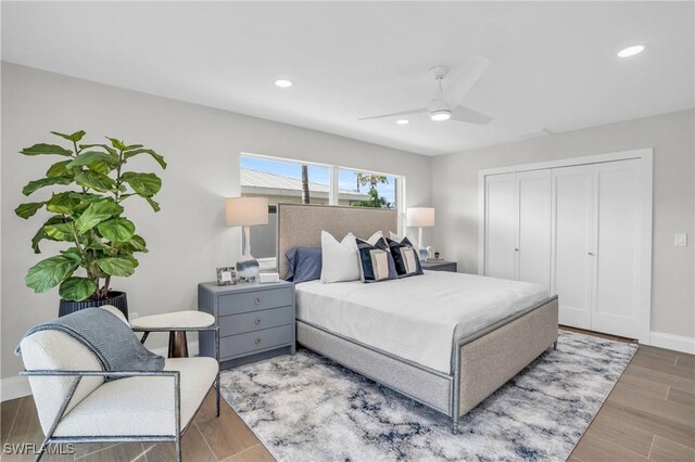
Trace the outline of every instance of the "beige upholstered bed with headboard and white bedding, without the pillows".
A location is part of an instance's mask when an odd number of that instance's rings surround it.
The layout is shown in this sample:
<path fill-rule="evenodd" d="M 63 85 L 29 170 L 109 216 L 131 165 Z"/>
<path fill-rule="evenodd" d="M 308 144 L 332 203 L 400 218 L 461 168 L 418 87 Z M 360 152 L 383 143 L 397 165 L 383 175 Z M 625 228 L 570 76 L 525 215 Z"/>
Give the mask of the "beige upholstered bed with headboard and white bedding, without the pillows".
<path fill-rule="evenodd" d="M 321 230 L 341 239 L 396 229 L 395 210 L 280 204 L 280 278 L 287 251 L 319 247 Z M 534 284 L 426 271 L 295 288 L 299 344 L 448 415 L 454 433 L 462 415 L 557 346 L 557 297 Z"/>

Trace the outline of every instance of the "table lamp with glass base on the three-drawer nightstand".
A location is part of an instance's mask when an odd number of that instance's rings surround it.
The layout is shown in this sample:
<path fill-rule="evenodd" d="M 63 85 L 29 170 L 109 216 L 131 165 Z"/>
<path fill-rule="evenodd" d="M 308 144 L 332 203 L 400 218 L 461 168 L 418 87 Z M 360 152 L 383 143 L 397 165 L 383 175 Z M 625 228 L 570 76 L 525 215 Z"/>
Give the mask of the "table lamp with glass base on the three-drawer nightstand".
<path fill-rule="evenodd" d="M 227 197 L 227 224 L 242 227 L 242 255 L 237 260 L 237 275 L 250 281 L 258 275 L 261 266 L 251 255 L 250 228 L 268 224 L 268 200 L 266 197 Z"/>

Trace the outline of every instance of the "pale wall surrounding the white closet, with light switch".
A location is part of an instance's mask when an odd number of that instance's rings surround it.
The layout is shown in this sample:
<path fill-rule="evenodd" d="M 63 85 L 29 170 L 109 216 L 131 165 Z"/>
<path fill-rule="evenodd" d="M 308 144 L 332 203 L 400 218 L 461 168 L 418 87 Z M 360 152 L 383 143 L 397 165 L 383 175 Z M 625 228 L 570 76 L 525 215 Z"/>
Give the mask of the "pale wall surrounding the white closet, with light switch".
<path fill-rule="evenodd" d="M 682 111 L 434 157 L 435 247 L 478 271 L 478 170 L 654 147 L 652 331 L 695 336 L 695 112 Z M 688 234 L 674 247 L 673 234 Z"/>

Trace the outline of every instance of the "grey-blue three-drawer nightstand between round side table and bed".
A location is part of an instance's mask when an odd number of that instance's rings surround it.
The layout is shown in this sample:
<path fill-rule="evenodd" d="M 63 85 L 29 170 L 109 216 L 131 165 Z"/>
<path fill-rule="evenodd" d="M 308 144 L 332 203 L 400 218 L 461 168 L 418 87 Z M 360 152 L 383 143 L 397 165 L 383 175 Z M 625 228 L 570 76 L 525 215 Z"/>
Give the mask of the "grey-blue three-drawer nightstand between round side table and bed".
<path fill-rule="evenodd" d="M 198 284 L 198 309 L 219 325 L 220 369 L 294 355 L 294 284 L 239 282 Z M 201 333 L 200 355 L 214 357 L 214 335 Z"/>

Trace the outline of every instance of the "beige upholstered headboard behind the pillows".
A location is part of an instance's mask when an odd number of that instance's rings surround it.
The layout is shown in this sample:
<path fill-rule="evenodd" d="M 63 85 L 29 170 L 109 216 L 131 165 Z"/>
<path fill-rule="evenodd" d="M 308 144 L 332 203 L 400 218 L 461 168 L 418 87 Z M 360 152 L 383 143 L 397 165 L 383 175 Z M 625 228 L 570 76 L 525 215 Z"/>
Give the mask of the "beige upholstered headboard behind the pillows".
<path fill-rule="evenodd" d="M 389 235 L 397 232 L 399 217 L 394 209 L 342 207 L 334 205 L 278 205 L 278 272 L 285 279 L 288 260 L 285 254 L 292 247 L 320 247 L 321 230 L 341 241 L 349 232 L 367 239 L 377 231 Z"/>

